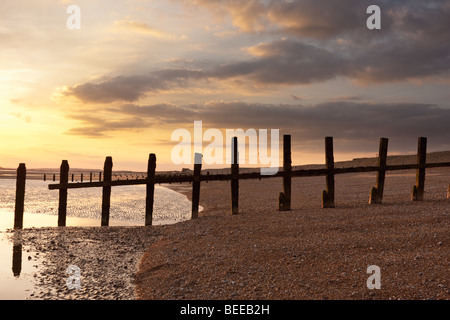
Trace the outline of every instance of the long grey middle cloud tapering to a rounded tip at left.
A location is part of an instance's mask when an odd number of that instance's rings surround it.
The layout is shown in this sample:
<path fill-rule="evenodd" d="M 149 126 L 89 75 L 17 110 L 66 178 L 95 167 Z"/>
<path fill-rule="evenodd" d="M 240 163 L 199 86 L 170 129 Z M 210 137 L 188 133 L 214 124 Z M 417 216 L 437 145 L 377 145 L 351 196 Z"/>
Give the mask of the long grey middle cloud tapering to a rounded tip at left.
<path fill-rule="evenodd" d="M 450 42 L 410 42 L 334 51 L 298 41 L 279 40 L 248 48 L 245 61 L 211 66 L 209 70 L 166 69 L 147 75 L 123 75 L 88 82 L 65 94 L 83 102 L 134 102 L 147 93 L 198 86 L 199 80 L 242 81 L 265 85 L 304 85 L 346 77 L 361 83 L 384 83 L 427 77 L 448 77 Z M 220 87 L 220 82 L 216 83 Z"/>

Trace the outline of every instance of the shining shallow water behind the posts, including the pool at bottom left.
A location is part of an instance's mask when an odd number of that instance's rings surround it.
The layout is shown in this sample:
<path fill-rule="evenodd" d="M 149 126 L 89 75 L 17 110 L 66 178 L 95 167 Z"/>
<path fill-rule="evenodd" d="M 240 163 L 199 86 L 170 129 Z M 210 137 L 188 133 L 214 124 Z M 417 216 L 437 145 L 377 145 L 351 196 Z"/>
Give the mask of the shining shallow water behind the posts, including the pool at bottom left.
<path fill-rule="evenodd" d="M 30 246 L 27 243 L 21 245 L 20 233 L 11 230 L 14 226 L 15 181 L 0 179 L 0 190 L 0 300 L 24 300 L 36 290 L 34 277 L 44 261 L 41 261 L 42 255 L 27 252 Z M 57 200 L 58 193 L 49 192 L 48 183 L 27 181 L 23 228 L 57 227 Z M 155 200 L 154 225 L 190 219 L 191 202 L 186 196 L 158 186 Z M 71 190 L 67 211 L 67 227 L 100 227 L 101 190 Z M 110 226 L 144 226 L 144 212 L 145 186 L 115 187 Z"/>

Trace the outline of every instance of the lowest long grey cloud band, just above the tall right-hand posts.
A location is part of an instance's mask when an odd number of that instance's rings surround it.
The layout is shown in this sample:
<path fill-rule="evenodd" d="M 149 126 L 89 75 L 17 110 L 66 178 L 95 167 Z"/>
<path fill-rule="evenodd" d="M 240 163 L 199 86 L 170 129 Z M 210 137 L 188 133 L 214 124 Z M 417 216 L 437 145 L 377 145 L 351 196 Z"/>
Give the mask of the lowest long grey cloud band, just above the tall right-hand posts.
<path fill-rule="evenodd" d="M 205 128 L 280 129 L 293 134 L 296 141 L 303 144 L 334 136 L 347 145 L 367 149 L 373 148 L 380 137 L 388 137 L 396 141 L 398 151 L 412 151 L 411 144 L 417 137 L 426 136 L 435 150 L 450 147 L 450 109 L 429 104 L 340 101 L 305 106 L 208 102 L 201 106 L 124 105 L 108 108 L 106 113 L 122 120 L 73 116 L 72 119 L 79 120 L 82 126 L 68 133 L 100 136 L 151 126 L 189 129 L 193 121 L 201 120 Z M 94 134 L 93 128 L 96 128 Z"/>

